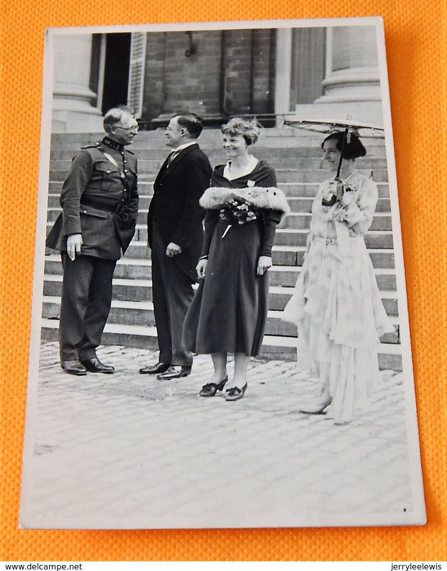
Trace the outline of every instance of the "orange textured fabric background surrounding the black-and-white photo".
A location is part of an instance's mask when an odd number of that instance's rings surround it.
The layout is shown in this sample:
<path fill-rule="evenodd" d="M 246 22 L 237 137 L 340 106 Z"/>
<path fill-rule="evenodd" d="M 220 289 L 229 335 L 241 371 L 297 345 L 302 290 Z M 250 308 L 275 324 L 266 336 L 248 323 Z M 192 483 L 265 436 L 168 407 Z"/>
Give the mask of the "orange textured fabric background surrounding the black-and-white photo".
<path fill-rule="evenodd" d="M 445 0 L 2 0 L 0 6 L 0 560 L 445 561 Z M 367 15 L 382 15 L 385 23 L 428 524 L 221 532 L 19 530 L 44 29 Z"/>

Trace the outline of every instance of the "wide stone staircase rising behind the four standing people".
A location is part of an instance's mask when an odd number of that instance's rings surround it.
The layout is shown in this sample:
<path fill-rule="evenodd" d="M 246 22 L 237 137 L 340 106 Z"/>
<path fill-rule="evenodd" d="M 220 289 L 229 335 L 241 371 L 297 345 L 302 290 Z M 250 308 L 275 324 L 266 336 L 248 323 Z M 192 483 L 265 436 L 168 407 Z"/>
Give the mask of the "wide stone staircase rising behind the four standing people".
<path fill-rule="evenodd" d="M 72 156 L 80 146 L 93 143 L 100 134 L 55 134 L 51 140 L 50 184 L 48 188 L 47 230 L 60 212 L 59 194 Z M 288 198 L 291 214 L 278 227 L 273 247 L 270 273 L 269 313 L 263 355 L 277 359 L 294 359 L 296 328 L 281 320 L 281 311 L 289 299 L 303 262 L 306 236 L 310 226 L 312 199 L 318 184 L 329 173 L 322 164 L 319 147 L 321 135 L 290 127 L 265 129 L 254 148 L 259 159 L 275 168 L 278 186 Z M 225 162 L 220 131 L 207 129 L 198 140 L 212 166 Z M 372 176 L 379 187 L 379 201 L 371 230 L 365 242 L 371 256 L 381 296 L 395 323 L 396 332 L 385 335 L 378 347 L 381 368 L 401 370 L 399 311 L 393 252 L 391 210 L 389 203 L 387 160 L 382 140 L 363 141 L 368 154 L 359 159 L 361 171 Z M 131 150 L 139 160 L 140 211 L 135 238 L 124 258 L 119 260 L 113 279 L 112 309 L 103 342 L 129 347 L 157 347 L 151 292 L 151 262 L 147 247 L 146 215 L 152 195 L 152 183 L 168 147 L 164 131 L 143 131 Z M 42 339 L 56 340 L 62 266 L 60 257 L 48 251 L 45 262 L 42 311 Z"/>

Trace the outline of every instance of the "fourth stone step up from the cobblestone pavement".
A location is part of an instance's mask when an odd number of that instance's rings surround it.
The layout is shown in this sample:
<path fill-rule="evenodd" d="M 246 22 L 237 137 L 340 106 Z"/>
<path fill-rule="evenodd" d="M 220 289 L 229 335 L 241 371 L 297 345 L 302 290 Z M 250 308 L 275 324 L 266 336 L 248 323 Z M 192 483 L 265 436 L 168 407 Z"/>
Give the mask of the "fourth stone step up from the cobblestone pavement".
<path fill-rule="evenodd" d="M 272 266 L 269 270 L 271 286 L 294 287 L 301 268 L 298 266 Z M 45 256 L 45 273 L 50 275 L 62 274 L 62 264 L 59 254 Z M 376 280 L 379 289 L 396 289 L 396 272 L 390 268 L 376 268 Z M 121 258 L 115 269 L 115 278 L 150 279 L 151 260 Z"/>

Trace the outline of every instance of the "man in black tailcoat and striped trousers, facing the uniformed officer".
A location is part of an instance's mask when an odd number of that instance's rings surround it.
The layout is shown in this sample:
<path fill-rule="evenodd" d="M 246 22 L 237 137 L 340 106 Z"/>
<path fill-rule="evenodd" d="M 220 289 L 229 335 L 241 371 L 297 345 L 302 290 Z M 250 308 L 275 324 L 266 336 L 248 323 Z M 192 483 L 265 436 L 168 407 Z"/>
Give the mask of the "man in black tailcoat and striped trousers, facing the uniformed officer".
<path fill-rule="evenodd" d="M 158 379 L 189 375 L 192 353 L 181 345 L 186 311 L 197 282 L 204 211 L 198 201 L 210 185 L 212 168 L 196 143 L 202 120 L 194 114 L 175 115 L 166 128 L 172 148 L 154 183 L 148 212 L 152 260 L 152 299 L 159 341 L 159 362 L 140 369 Z"/>

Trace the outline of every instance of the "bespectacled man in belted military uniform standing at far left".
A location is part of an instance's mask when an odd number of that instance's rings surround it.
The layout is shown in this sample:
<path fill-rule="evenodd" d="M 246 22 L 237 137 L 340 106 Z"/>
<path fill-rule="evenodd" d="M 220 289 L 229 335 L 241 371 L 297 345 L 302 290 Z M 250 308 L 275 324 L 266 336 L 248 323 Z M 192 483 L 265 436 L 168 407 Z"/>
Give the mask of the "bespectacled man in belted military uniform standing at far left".
<path fill-rule="evenodd" d="M 62 256 L 61 366 L 71 375 L 113 373 L 96 356 L 111 303 L 116 261 L 135 232 L 137 160 L 124 147 L 138 123 L 125 107 L 104 116 L 105 137 L 72 160 L 60 194 L 62 214 L 47 246 Z"/>

